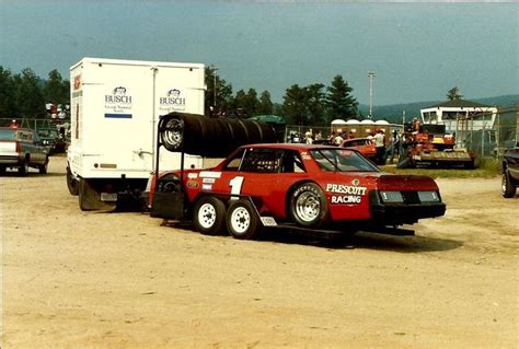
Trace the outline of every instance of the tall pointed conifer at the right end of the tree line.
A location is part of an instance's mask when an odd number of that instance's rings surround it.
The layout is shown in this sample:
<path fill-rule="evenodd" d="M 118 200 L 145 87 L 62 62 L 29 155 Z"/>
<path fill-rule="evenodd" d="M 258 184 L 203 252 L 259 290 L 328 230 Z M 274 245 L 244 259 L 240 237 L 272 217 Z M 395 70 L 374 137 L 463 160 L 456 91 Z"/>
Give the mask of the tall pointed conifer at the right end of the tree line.
<path fill-rule="evenodd" d="M 342 75 L 336 75 L 332 85 L 326 88 L 326 114 L 327 121 L 334 119 L 350 119 L 358 115 L 358 102 L 351 95 L 354 91 L 343 79 Z"/>

